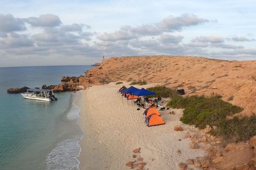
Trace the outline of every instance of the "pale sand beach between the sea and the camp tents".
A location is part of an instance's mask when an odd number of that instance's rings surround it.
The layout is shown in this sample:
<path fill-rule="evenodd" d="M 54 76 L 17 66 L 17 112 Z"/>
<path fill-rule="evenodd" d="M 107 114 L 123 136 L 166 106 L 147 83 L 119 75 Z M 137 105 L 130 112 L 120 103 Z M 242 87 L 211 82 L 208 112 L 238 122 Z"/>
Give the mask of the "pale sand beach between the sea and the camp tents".
<path fill-rule="evenodd" d="M 132 161 L 133 155 L 142 157 L 147 165 L 143 169 L 179 169 L 180 162 L 207 155 L 205 150 L 190 149 L 191 140 L 183 139 L 186 134 L 192 135 L 196 128 L 190 128 L 179 121 L 182 109 L 173 109 L 175 115 L 169 111 L 159 111 L 165 125 L 145 125 L 142 116 L 144 109 L 137 111 L 138 106 L 131 104 L 117 90 L 127 84 L 110 83 L 93 86 L 89 89 L 74 93 L 75 104 L 81 108 L 82 118 L 78 120 L 85 135 L 79 145 L 82 147 L 78 160 L 80 169 L 130 169 L 125 166 Z M 154 87 L 134 86 L 137 88 Z M 182 132 L 175 132 L 174 125 L 181 125 Z M 179 140 L 180 139 L 180 140 Z M 199 143 L 199 146 L 203 144 Z M 141 148 L 140 154 L 132 151 Z M 177 150 L 181 154 L 177 154 Z M 136 163 L 139 161 L 136 159 Z M 155 158 L 153 162 L 151 159 Z M 188 167 L 195 168 L 193 165 Z M 134 168 L 137 169 L 137 168 Z"/>

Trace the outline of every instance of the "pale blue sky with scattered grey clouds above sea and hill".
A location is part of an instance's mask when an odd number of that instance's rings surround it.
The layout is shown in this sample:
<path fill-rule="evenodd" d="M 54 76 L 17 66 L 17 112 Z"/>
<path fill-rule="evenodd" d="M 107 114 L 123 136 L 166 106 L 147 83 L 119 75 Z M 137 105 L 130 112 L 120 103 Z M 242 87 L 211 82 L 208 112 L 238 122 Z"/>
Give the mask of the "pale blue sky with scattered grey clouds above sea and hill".
<path fill-rule="evenodd" d="M 255 16 L 252 0 L 1 0 L 0 67 L 103 56 L 256 60 Z"/>

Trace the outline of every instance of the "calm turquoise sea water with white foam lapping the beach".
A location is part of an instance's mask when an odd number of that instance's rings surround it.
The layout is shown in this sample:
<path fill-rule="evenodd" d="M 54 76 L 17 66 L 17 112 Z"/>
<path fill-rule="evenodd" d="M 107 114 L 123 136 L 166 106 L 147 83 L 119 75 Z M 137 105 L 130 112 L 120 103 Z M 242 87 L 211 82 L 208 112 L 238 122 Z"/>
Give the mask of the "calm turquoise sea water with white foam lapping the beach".
<path fill-rule="evenodd" d="M 78 169 L 84 132 L 80 109 L 71 92 L 54 93 L 57 101 L 37 101 L 8 88 L 60 84 L 62 76 L 85 75 L 84 66 L 0 67 L 0 169 Z"/>

